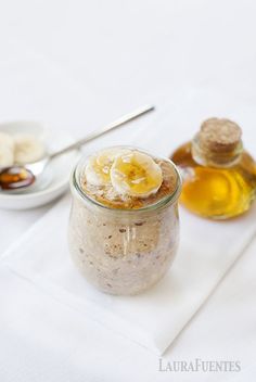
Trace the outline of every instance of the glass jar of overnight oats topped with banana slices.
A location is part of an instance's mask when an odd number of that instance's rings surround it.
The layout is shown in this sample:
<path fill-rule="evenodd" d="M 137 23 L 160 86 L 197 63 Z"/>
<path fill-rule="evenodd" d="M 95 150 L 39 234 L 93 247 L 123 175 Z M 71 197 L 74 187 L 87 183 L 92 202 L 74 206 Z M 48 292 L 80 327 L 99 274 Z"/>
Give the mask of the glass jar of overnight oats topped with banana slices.
<path fill-rule="evenodd" d="M 86 279 L 119 295 L 162 279 L 179 240 L 181 180 L 174 163 L 115 147 L 82 158 L 71 183 L 69 250 Z"/>

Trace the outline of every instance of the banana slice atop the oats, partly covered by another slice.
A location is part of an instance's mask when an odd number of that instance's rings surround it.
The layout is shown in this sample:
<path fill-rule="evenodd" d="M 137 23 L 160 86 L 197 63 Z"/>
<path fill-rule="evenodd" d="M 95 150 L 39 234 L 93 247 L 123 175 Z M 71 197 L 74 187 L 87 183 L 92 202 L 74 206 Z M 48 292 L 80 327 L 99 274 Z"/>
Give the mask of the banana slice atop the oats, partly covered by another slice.
<path fill-rule="evenodd" d="M 89 158 L 86 166 L 86 179 L 92 186 L 111 184 L 111 167 L 115 157 L 120 154 L 129 152 L 129 150 L 111 149 L 103 150 L 99 154 Z"/>

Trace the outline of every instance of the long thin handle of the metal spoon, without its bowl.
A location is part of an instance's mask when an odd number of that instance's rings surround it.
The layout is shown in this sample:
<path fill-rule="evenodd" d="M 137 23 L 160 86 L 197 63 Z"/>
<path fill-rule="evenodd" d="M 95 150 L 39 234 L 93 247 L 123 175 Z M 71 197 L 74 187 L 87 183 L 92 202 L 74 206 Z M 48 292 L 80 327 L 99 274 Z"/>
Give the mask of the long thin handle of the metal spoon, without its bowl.
<path fill-rule="evenodd" d="M 78 149 L 80 148 L 81 145 L 88 143 L 88 142 L 91 142 L 92 140 L 94 140 L 95 138 L 99 138 L 110 131 L 113 131 L 115 129 L 117 129 L 118 127 L 127 124 L 128 122 L 130 120 L 133 120 L 149 112 L 152 112 L 155 107 L 154 106 L 144 106 L 144 107 L 140 107 L 138 110 L 136 110 L 135 112 L 131 112 L 129 114 L 126 114 L 124 115 L 123 117 L 116 119 L 115 122 L 113 122 L 112 124 L 108 124 L 104 127 L 102 127 L 101 129 L 97 130 L 97 131 L 93 131 L 91 132 L 90 135 L 88 135 L 86 138 L 84 139 L 80 139 L 79 141 L 51 154 L 49 156 L 50 160 L 52 160 L 53 157 L 56 157 L 59 155 L 62 155 L 71 150 L 74 150 L 74 149 Z"/>

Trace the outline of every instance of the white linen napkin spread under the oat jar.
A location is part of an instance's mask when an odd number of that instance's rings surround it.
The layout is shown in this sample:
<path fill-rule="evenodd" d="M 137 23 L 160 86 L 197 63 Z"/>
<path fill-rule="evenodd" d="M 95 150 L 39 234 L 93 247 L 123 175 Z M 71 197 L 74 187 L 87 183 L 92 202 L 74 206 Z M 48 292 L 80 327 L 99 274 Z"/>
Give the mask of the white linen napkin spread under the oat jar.
<path fill-rule="evenodd" d="M 228 222 L 180 211 L 181 242 L 168 275 L 138 296 L 98 292 L 69 259 L 65 196 L 4 255 L 14 272 L 108 329 L 163 353 L 206 301 L 256 231 L 255 207 Z"/>

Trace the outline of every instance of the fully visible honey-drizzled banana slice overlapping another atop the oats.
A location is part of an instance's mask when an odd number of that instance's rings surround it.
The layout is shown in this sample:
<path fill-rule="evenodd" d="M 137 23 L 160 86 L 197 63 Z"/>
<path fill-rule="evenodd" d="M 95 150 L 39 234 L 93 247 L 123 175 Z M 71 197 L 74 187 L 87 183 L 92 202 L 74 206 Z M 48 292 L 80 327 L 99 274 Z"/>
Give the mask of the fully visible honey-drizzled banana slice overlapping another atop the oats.
<path fill-rule="evenodd" d="M 163 175 L 151 156 L 131 151 L 116 156 L 111 168 L 111 181 L 120 194 L 148 198 L 157 192 Z"/>

